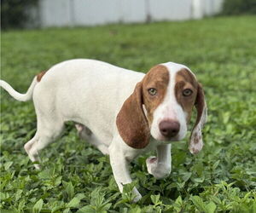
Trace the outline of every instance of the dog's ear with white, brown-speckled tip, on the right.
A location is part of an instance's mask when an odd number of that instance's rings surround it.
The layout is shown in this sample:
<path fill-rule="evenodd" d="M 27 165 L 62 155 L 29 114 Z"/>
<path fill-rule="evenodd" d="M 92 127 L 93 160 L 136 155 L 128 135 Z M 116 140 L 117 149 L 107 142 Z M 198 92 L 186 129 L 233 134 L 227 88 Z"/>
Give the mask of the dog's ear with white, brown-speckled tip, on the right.
<path fill-rule="evenodd" d="M 195 100 L 195 108 L 197 111 L 197 118 L 195 126 L 190 135 L 189 151 L 190 153 L 196 154 L 201 151 L 203 147 L 201 130 L 207 122 L 207 102 L 205 101 L 204 91 L 201 88 L 201 84 L 198 83 L 197 96 Z"/>

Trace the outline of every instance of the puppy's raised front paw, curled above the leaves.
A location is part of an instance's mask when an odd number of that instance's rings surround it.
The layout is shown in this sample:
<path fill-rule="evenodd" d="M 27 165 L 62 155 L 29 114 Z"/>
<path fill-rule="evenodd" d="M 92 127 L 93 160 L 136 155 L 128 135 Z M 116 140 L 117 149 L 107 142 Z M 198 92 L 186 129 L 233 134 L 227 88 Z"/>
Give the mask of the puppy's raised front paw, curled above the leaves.
<path fill-rule="evenodd" d="M 163 179 L 170 175 L 171 166 L 157 162 L 156 157 L 149 157 L 146 160 L 148 173 L 156 179 Z"/>

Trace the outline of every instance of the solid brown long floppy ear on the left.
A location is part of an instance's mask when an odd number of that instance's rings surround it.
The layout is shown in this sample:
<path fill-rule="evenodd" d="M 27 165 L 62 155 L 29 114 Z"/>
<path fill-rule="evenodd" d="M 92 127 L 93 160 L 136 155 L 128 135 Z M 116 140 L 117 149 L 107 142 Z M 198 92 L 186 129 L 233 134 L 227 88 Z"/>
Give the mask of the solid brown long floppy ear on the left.
<path fill-rule="evenodd" d="M 143 112 L 143 83 L 137 83 L 133 93 L 126 99 L 117 118 L 119 135 L 125 143 L 133 148 L 148 145 L 150 131 L 148 120 Z"/>

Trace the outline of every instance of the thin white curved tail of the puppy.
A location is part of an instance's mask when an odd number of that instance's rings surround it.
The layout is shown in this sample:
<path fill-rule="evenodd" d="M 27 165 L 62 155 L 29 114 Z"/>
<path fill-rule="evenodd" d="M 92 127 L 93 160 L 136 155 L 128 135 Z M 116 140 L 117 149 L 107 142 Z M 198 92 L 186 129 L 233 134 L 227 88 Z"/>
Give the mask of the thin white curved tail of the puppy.
<path fill-rule="evenodd" d="M 21 93 L 15 91 L 15 89 L 13 89 L 9 85 L 9 83 L 7 83 L 3 80 L 0 80 L 0 87 L 3 87 L 3 89 L 5 89 L 9 93 L 9 95 L 13 96 L 18 101 L 29 101 L 32 99 L 33 90 L 37 83 L 38 83 L 37 77 L 35 77 L 32 80 L 32 83 L 31 83 L 29 89 L 27 89 L 26 94 L 21 94 Z"/>

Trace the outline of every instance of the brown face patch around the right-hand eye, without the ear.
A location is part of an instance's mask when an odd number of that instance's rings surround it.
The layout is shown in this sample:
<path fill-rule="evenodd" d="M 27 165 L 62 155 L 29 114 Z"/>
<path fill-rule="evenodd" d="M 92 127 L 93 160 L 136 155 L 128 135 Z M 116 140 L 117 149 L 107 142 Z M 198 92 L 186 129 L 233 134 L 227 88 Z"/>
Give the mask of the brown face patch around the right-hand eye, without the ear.
<path fill-rule="evenodd" d="M 191 118 L 192 109 L 195 105 L 198 83 L 189 70 L 183 68 L 176 75 L 176 84 L 175 84 L 175 95 L 177 102 L 183 107 L 184 112 L 187 112 L 187 122 Z M 191 89 L 192 94 L 189 96 L 183 95 L 184 89 Z"/>

